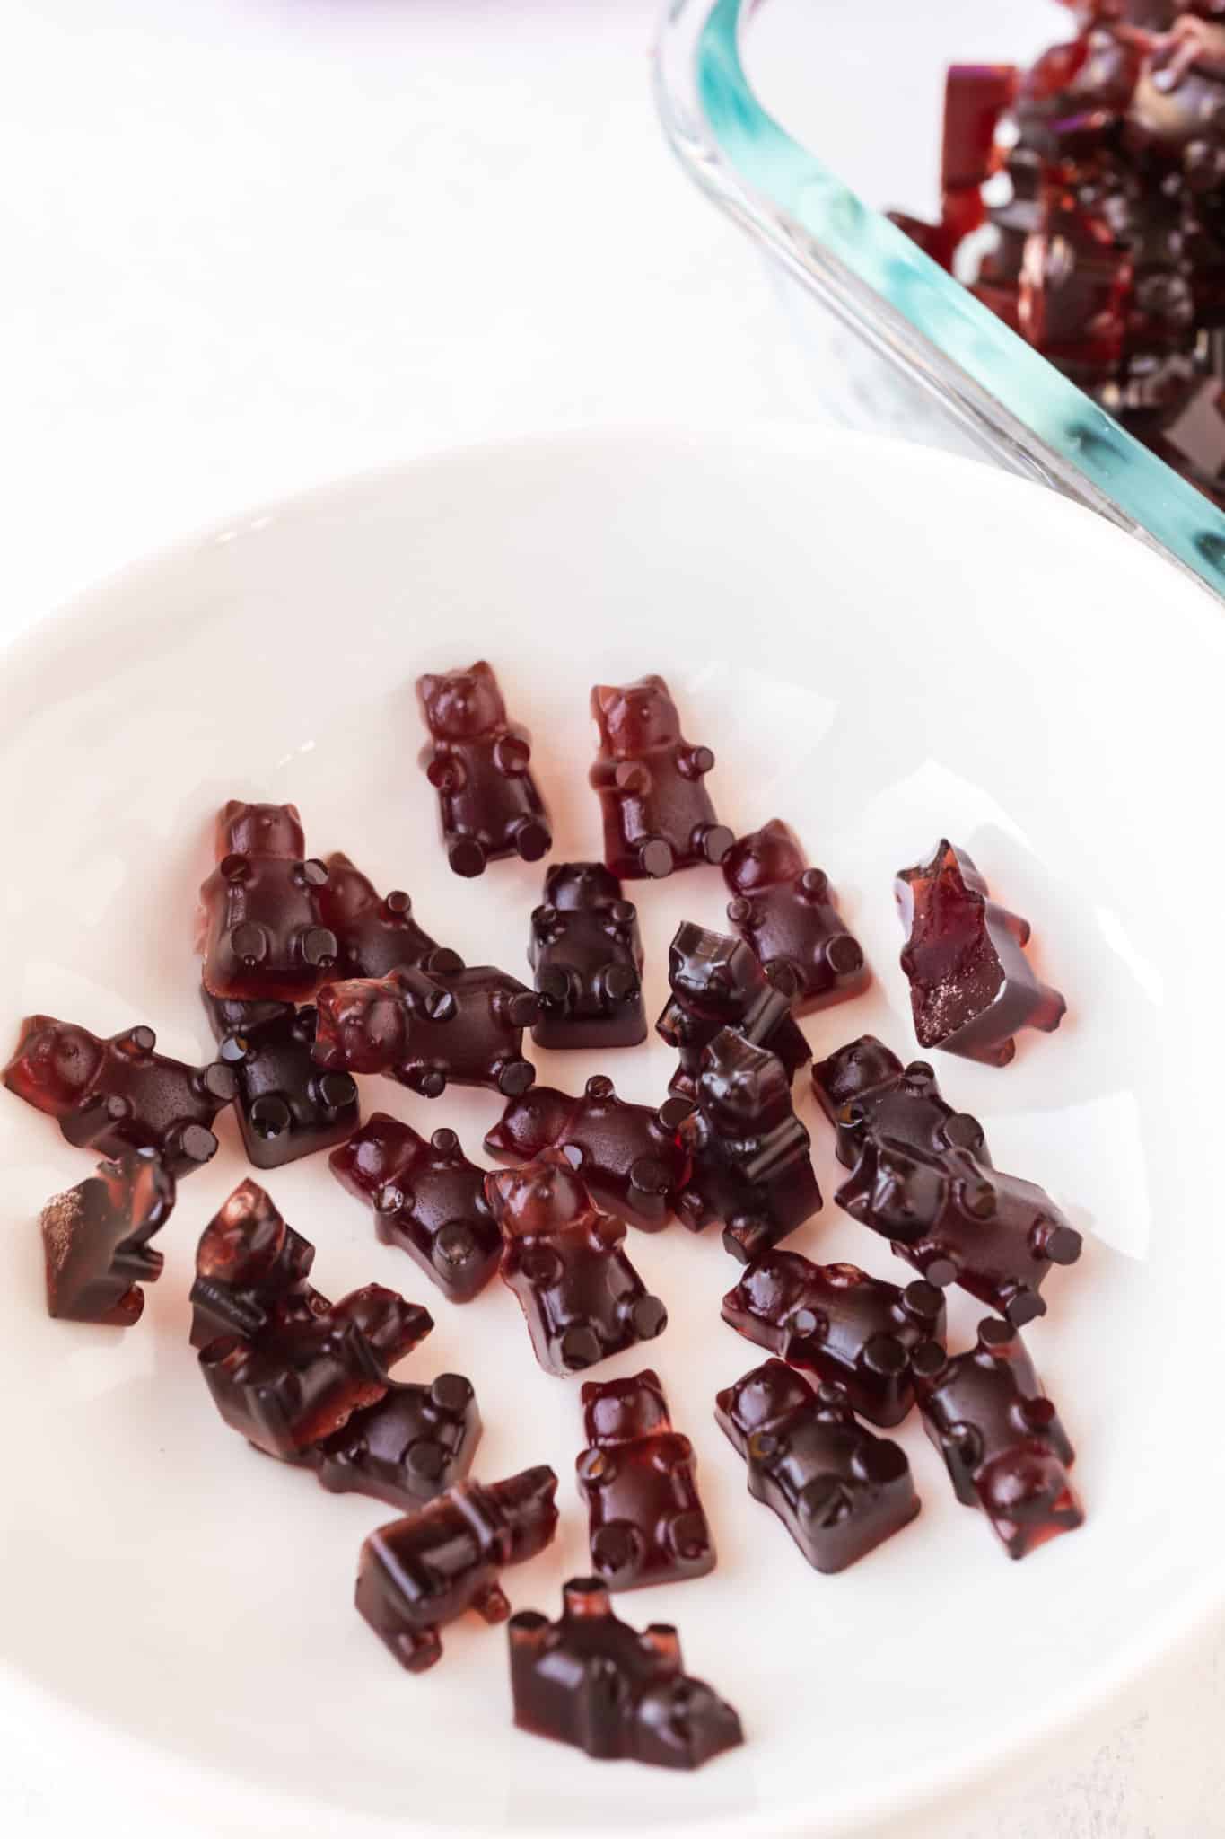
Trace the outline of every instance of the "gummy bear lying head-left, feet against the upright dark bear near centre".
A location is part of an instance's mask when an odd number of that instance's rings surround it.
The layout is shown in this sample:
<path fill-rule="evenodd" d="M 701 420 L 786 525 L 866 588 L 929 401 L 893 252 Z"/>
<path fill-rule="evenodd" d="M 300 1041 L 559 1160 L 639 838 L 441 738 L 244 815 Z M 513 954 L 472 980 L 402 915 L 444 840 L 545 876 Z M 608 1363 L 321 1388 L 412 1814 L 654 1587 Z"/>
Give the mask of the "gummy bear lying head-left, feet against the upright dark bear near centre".
<path fill-rule="evenodd" d="M 683 1100 L 663 1109 L 617 1098 L 602 1072 L 588 1079 L 582 1098 L 551 1085 L 533 1085 L 507 1103 L 485 1138 L 498 1162 L 534 1162 L 560 1149 L 595 1201 L 643 1232 L 667 1227 L 676 1197 L 689 1181 L 689 1151 L 681 1146 Z"/>

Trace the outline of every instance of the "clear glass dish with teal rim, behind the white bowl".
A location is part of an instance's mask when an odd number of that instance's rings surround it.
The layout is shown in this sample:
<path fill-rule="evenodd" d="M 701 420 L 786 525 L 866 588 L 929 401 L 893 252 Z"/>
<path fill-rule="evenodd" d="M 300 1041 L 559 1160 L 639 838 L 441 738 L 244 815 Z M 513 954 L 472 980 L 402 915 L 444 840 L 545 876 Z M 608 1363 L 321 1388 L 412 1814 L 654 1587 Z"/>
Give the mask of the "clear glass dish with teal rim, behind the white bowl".
<path fill-rule="evenodd" d="M 832 419 L 1041 480 L 1225 594 L 1216 506 L 883 215 L 935 215 L 944 68 L 1030 63 L 1067 26 L 1051 0 L 670 0 L 656 94 L 691 177 L 770 250 Z"/>

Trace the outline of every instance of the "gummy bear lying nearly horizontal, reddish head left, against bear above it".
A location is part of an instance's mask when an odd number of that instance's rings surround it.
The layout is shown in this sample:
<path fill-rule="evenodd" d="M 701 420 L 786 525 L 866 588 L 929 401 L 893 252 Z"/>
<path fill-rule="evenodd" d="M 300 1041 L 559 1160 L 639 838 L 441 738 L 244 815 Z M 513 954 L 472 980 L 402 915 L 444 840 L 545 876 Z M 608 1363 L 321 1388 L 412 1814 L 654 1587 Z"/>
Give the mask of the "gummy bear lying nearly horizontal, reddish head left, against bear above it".
<path fill-rule="evenodd" d="M 536 993 L 492 964 L 433 978 L 391 971 L 320 991 L 314 1057 L 388 1072 L 422 1098 L 448 1085 L 490 1085 L 507 1096 L 536 1078 L 523 1059 L 523 1030 L 538 1015 Z"/>

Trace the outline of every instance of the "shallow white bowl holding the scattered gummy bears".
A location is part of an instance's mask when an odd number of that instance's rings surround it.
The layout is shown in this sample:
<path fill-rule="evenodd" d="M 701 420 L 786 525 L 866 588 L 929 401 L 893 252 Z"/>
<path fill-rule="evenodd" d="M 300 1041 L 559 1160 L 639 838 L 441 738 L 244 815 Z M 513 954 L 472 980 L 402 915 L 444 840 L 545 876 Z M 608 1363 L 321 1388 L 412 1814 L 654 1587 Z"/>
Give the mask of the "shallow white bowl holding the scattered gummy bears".
<path fill-rule="evenodd" d="M 635 1234 L 672 1322 L 606 1370 L 659 1366 L 720 1561 L 621 1607 L 678 1622 L 747 1743 L 692 1776 L 591 1764 L 512 1729 L 498 1629 L 454 1626 L 443 1664 L 399 1672 L 351 1605 L 386 1510 L 325 1495 L 217 1418 L 185 1291 L 244 1173 L 231 1125 L 121 1335 L 44 1315 L 33 1221 L 90 1164 L 4 1096 L 0 1729 L 28 1815 L 110 1810 L 141 1835 L 845 1832 L 1065 1723 L 1221 1600 L 1219 609 L 1052 495 L 863 440 L 549 440 L 314 493 L 121 576 L 9 657 L 11 1032 L 29 1010 L 101 1034 L 152 1022 L 165 1050 L 208 1057 L 191 920 L 230 794 L 298 800 L 312 851 L 347 850 L 468 962 L 522 973 L 540 870 L 450 875 L 415 763 L 411 679 L 478 655 L 534 732 L 558 859 L 599 848 L 590 684 L 646 669 L 714 747 L 724 820 L 795 824 L 878 973 L 806 1024 L 817 1052 L 863 1030 L 913 1048 L 891 875 L 940 833 L 1032 920 L 1063 1028 L 1005 1072 L 938 1070 L 997 1162 L 1091 1234 L 1027 1337 L 1087 1525 L 1010 1565 L 911 1420 L 920 1519 L 843 1576 L 808 1571 L 711 1418 L 716 1387 L 760 1359 L 718 1320 L 736 1267 L 714 1232 Z M 654 1015 L 676 921 L 718 925 L 725 890 L 703 870 L 635 892 Z M 650 1098 L 670 1057 L 654 1043 L 606 1063 Z M 597 1065 L 540 1056 L 553 1083 Z M 828 1195 L 830 1137 L 799 1091 Z M 476 1155 L 498 1114 L 483 1092 L 364 1096 L 454 1122 Z M 586 1569 L 577 1387 L 534 1366 L 501 1285 L 466 1309 L 430 1295 L 321 1159 L 268 1188 L 318 1243 L 321 1287 L 378 1278 L 435 1309 L 402 1376 L 472 1376 L 479 1475 L 558 1469 L 558 1543 L 505 1576 L 516 1607 L 555 1611 Z M 828 1201 L 792 1243 L 902 1271 Z M 981 1313 L 957 1296 L 955 1335 Z"/>

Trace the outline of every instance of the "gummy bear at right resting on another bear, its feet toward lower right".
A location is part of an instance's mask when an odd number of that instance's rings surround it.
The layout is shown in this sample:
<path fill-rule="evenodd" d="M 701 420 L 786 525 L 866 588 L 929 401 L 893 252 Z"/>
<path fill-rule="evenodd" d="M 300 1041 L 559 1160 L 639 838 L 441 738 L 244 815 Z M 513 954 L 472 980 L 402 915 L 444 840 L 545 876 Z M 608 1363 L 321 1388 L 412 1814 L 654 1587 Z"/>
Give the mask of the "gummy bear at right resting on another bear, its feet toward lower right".
<path fill-rule="evenodd" d="M 1038 1291 L 1051 1265 L 1080 1258 L 1080 1234 L 1049 1194 L 968 1149 L 869 1140 L 836 1201 L 929 1284 L 959 1284 L 1014 1328 L 1047 1313 Z"/>

